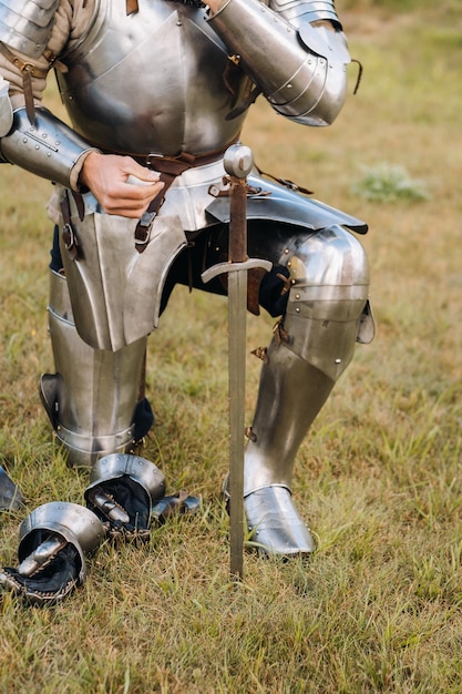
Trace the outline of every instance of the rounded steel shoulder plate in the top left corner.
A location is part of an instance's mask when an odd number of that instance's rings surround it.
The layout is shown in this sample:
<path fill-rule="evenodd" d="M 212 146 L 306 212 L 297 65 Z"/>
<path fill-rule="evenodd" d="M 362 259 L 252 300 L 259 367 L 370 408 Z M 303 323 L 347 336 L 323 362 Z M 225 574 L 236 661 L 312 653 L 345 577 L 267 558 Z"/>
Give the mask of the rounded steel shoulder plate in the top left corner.
<path fill-rule="evenodd" d="M 37 60 L 50 40 L 60 0 L 0 0 L 0 41 Z"/>

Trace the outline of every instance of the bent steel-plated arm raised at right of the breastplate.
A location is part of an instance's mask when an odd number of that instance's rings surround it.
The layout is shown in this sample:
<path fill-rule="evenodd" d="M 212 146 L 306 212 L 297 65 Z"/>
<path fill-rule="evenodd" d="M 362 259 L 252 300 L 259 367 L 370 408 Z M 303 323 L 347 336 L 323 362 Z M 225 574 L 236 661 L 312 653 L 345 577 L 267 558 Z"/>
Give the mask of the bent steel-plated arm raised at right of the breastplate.
<path fill-rule="evenodd" d="M 336 119 L 350 55 L 333 0 L 226 0 L 209 22 L 275 111 L 306 125 Z"/>

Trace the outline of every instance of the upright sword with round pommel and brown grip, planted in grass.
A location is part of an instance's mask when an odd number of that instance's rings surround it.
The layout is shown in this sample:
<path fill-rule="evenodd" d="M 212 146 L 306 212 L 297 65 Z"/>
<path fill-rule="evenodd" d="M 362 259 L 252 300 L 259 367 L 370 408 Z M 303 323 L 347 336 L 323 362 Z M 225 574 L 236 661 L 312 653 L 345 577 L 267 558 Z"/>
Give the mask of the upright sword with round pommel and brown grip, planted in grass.
<path fill-rule="evenodd" d="M 251 150 L 239 142 L 224 156 L 229 176 L 229 257 L 202 274 L 204 283 L 228 275 L 228 402 L 229 402 L 229 558 L 230 573 L 243 578 L 244 554 L 244 426 L 246 381 L 247 273 L 271 269 L 269 261 L 247 256 L 247 175 Z"/>

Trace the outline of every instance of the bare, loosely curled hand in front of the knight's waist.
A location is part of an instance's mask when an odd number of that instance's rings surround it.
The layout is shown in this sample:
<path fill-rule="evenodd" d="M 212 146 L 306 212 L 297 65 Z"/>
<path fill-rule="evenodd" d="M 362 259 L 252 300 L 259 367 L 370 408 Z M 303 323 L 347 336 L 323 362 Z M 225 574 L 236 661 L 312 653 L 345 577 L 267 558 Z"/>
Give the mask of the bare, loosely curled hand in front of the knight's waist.
<path fill-rule="evenodd" d="M 131 183 L 134 176 L 141 184 Z M 91 152 L 82 166 L 80 183 L 93 193 L 104 212 L 138 220 L 162 191 L 158 174 L 131 156 Z"/>

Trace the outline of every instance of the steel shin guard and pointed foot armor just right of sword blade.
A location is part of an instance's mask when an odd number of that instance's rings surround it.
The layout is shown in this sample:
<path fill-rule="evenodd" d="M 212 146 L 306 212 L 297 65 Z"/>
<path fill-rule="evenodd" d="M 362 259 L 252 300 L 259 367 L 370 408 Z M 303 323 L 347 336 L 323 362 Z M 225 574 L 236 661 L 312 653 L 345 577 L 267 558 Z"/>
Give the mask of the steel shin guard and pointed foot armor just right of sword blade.
<path fill-rule="evenodd" d="M 298 448 L 333 380 L 273 341 L 260 378 L 244 467 L 244 508 L 256 545 L 281 555 L 309 554 L 316 544 L 291 500 Z"/>

